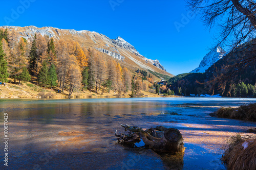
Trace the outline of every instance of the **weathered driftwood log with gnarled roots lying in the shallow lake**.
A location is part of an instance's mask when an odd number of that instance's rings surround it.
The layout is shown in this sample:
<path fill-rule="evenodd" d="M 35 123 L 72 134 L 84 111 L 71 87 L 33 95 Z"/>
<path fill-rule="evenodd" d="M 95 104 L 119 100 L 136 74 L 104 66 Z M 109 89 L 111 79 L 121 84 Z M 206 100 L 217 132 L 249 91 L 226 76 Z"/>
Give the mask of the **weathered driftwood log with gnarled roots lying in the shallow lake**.
<path fill-rule="evenodd" d="M 183 138 L 178 129 L 158 126 L 143 131 L 136 126 L 121 125 L 128 134 L 117 134 L 118 142 L 126 145 L 134 145 L 143 140 L 145 146 L 159 153 L 179 153 L 184 152 Z"/>

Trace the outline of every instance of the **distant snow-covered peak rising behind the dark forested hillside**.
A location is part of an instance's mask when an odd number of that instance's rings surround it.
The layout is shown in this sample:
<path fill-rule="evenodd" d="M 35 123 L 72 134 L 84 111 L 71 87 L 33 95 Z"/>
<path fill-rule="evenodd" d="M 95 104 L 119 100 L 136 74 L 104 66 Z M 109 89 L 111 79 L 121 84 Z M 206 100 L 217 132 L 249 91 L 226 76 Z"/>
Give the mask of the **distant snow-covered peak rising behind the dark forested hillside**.
<path fill-rule="evenodd" d="M 199 67 L 191 72 L 205 72 L 211 65 L 214 65 L 219 61 L 226 52 L 219 46 L 214 50 L 211 50 L 206 56 L 204 56 Z"/>

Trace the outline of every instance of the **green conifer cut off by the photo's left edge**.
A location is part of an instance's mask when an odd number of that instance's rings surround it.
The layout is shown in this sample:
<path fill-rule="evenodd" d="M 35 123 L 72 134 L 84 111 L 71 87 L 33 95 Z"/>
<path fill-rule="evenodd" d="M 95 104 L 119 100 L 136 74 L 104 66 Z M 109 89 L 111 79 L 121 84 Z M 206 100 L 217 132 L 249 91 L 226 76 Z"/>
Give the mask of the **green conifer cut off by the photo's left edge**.
<path fill-rule="evenodd" d="M 6 54 L 3 50 L 3 44 L 0 40 L 0 81 L 2 82 L 8 82 L 7 78 L 9 76 L 7 72 L 7 66 L 8 62 L 6 61 Z"/>

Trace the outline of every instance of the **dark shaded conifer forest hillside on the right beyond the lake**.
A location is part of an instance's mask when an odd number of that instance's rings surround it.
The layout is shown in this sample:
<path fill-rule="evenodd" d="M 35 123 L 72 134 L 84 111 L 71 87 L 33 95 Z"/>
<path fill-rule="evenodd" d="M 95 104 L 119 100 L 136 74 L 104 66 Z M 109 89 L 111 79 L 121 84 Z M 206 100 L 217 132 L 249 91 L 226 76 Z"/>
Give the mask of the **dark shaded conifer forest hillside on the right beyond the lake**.
<path fill-rule="evenodd" d="M 186 73 L 166 81 L 166 88 L 178 95 L 220 94 L 228 97 L 256 97 L 254 40 L 241 44 L 204 73 Z"/>

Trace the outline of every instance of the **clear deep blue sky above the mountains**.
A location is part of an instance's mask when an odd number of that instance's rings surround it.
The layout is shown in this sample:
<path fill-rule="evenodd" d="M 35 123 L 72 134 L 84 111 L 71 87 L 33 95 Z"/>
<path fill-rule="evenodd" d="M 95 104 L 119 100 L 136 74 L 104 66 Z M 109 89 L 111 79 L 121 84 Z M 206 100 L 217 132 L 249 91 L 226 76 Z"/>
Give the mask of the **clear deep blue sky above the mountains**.
<path fill-rule="evenodd" d="M 28 1 L 30 4 L 20 3 Z M 50 26 L 96 31 L 113 39 L 120 36 L 141 55 L 158 59 L 174 75 L 199 66 L 216 31 L 209 33 L 200 16 L 182 20 L 189 15 L 184 0 L 12 0 L 1 4 L 1 26 Z M 12 19 L 9 24 L 7 18 Z M 178 32 L 175 24 L 179 23 Z"/>

